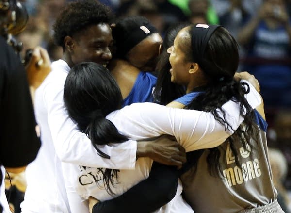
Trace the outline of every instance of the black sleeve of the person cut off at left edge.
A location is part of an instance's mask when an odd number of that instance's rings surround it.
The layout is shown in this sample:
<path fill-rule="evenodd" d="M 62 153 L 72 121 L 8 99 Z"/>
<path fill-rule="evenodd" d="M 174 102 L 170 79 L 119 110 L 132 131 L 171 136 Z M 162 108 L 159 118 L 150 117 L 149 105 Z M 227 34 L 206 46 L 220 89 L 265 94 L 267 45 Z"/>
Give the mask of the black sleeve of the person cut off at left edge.
<path fill-rule="evenodd" d="M 1 39 L 0 164 L 21 167 L 40 148 L 26 71 L 13 49 Z"/>

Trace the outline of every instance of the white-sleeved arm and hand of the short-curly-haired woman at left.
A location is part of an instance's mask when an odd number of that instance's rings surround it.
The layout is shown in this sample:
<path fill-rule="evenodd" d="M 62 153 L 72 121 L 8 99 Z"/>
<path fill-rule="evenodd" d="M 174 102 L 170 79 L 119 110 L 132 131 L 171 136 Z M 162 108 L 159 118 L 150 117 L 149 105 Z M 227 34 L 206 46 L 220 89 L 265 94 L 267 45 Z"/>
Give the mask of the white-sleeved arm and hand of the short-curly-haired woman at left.
<path fill-rule="evenodd" d="M 156 147 L 151 145 L 153 142 L 149 141 L 140 142 L 137 145 L 136 141 L 129 140 L 112 146 L 100 146 L 100 150 L 108 154 L 110 159 L 99 156 L 87 135 L 80 132 L 67 115 L 63 102 L 64 79 L 67 74 L 61 70 L 54 70 L 53 67 L 52 72 L 55 71 L 59 72 L 58 79 L 48 83 L 45 82 L 42 85 L 42 87 L 45 87 L 43 88 L 44 94 L 42 97 L 38 97 L 37 91 L 36 97 L 42 98 L 46 103 L 51 136 L 56 153 L 61 161 L 90 167 L 133 169 L 137 157 L 147 156 L 163 164 L 177 166 L 182 164 L 177 145 L 167 144 L 163 147 L 175 153 L 169 158 L 169 156 L 163 156 L 161 152 L 157 152 Z M 90 158 L 87 156 L 90 156 Z"/>

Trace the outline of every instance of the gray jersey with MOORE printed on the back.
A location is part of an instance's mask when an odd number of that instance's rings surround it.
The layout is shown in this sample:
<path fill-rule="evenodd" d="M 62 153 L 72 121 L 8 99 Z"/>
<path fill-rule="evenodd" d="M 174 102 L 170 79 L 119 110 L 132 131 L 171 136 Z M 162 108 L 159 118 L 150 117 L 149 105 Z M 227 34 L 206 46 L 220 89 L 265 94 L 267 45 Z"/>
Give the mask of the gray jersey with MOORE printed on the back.
<path fill-rule="evenodd" d="M 257 143 L 252 154 L 240 142 L 235 149 L 242 169 L 234 162 L 229 143 L 220 145 L 221 177 L 210 175 L 204 151 L 197 165 L 196 173 L 189 170 L 182 175 L 186 200 L 196 213 L 235 213 L 272 203 L 277 191 L 272 182 L 272 172 L 268 159 L 266 133 L 259 130 Z"/>

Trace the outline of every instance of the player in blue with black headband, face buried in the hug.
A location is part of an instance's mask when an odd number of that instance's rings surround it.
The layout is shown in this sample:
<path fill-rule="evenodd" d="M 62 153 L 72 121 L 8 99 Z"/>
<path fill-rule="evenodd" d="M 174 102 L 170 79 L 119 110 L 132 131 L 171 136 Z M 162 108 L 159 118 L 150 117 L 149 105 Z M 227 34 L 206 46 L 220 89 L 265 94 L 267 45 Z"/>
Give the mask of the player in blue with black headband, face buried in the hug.
<path fill-rule="evenodd" d="M 143 16 L 119 20 L 112 34 L 115 49 L 108 68 L 121 89 L 123 106 L 152 102 L 157 78 L 149 72 L 155 70 L 162 37 Z"/>

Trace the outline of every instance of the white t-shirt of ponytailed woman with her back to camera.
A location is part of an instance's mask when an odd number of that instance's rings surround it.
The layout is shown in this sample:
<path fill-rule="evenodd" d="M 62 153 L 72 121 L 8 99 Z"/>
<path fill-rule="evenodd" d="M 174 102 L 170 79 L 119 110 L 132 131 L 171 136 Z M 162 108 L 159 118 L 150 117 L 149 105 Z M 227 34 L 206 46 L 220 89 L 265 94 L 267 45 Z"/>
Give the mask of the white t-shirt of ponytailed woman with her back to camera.
<path fill-rule="evenodd" d="M 246 95 L 246 98 L 255 108 L 260 104 L 261 99 L 258 92 L 252 86 L 250 88 L 250 93 Z M 243 121 L 243 118 L 239 116 L 239 104 L 229 101 L 223 105 L 223 108 L 226 111 L 226 120 L 233 130 L 236 130 Z M 187 152 L 217 147 L 233 133 L 233 131 L 226 132 L 225 126 L 216 121 L 211 113 L 173 109 L 154 103 L 131 104 L 109 114 L 107 119 L 111 120 L 122 134 L 134 140 L 162 134 L 173 135 Z M 111 187 L 115 196 L 111 196 L 104 189 L 100 168 L 76 164 L 63 164 L 63 168 L 68 194 L 79 194 L 83 201 L 93 196 L 102 202 L 122 195 L 132 186 L 145 180 L 149 175 L 151 165 L 151 159 L 140 158 L 136 162 L 135 170 L 120 170 L 119 183 Z M 182 199 L 181 192 L 182 186 L 179 181 L 176 196 L 157 212 L 193 212 Z M 72 212 L 88 212 L 86 202 L 74 204 L 74 207 L 71 206 Z M 81 209 L 82 205 L 84 209 Z"/>

